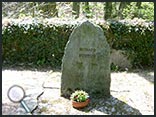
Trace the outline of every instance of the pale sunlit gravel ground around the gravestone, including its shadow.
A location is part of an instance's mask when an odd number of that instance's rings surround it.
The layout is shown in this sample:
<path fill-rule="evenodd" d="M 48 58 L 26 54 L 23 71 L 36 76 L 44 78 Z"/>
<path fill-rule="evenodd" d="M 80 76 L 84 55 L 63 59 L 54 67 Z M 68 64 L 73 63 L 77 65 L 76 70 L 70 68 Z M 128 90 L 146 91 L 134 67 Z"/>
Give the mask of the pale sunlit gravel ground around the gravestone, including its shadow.
<path fill-rule="evenodd" d="M 19 103 L 11 102 L 7 91 L 13 84 L 26 91 L 24 101 L 34 115 L 154 115 L 154 72 L 133 70 L 111 73 L 111 96 L 91 98 L 84 109 L 60 97 L 61 72 L 52 70 L 2 70 L 2 114 L 25 115 Z"/>

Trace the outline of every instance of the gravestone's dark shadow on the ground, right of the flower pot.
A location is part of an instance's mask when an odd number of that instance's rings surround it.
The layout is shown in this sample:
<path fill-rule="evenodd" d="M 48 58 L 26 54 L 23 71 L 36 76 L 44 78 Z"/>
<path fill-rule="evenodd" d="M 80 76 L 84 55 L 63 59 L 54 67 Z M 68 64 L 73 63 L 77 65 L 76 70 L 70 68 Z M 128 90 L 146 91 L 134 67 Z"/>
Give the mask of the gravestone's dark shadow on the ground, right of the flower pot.
<path fill-rule="evenodd" d="M 92 112 L 99 111 L 108 115 L 142 115 L 140 111 L 132 106 L 110 96 L 107 99 L 91 99 L 90 104 L 79 111 Z"/>

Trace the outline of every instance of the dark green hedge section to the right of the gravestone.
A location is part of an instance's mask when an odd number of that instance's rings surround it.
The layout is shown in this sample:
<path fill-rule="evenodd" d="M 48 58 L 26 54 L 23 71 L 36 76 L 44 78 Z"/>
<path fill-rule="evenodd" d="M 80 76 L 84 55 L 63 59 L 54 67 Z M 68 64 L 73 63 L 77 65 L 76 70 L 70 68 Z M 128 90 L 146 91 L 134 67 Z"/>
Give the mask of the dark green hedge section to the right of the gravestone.
<path fill-rule="evenodd" d="M 154 65 L 153 23 L 142 20 L 110 22 L 112 48 L 125 50 L 134 67 Z"/>

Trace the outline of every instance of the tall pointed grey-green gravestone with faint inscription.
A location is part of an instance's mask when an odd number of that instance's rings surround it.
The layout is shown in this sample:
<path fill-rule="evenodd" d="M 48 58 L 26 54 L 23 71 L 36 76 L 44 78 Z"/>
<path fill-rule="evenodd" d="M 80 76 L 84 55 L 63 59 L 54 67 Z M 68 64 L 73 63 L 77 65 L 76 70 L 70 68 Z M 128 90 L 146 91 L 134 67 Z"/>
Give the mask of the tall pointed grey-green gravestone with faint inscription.
<path fill-rule="evenodd" d="M 73 30 L 61 67 L 61 96 L 69 97 L 77 89 L 90 96 L 110 96 L 110 48 L 98 25 L 85 21 Z"/>

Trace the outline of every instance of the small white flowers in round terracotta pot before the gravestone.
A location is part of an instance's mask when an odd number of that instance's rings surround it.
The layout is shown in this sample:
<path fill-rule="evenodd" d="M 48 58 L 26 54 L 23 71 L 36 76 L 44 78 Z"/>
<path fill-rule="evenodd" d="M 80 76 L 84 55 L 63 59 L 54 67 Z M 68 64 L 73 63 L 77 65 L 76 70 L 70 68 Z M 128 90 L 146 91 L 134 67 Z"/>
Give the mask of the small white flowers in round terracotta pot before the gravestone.
<path fill-rule="evenodd" d="M 88 93 L 83 90 L 76 90 L 71 94 L 70 99 L 75 108 L 84 108 L 90 102 Z"/>

